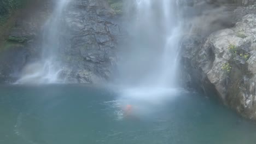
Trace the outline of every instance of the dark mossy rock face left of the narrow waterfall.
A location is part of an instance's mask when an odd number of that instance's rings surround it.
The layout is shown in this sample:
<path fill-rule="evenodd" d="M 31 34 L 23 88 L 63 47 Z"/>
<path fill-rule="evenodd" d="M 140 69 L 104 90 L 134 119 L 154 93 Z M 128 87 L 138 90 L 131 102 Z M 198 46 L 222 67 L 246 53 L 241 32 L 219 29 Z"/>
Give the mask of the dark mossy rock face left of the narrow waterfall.
<path fill-rule="evenodd" d="M 29 1 L 22 7 L 0 26 L 0 83 L 16 81 L 24 65 L 40 53 L 39 33 L 49 15 L 48 0 Z"/>

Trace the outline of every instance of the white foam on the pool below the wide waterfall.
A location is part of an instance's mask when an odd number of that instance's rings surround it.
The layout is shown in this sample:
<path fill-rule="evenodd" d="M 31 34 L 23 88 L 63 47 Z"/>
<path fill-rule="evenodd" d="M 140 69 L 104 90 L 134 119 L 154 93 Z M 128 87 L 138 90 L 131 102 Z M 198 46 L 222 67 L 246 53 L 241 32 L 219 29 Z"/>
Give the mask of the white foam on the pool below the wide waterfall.
<path fill-rule="evenodd" d="M 159 111 L 159 107 L 165 107 L 170 100 L 174 100 L 184 89 L 163 87 L 138 87 L 120 88 L 118 99 L 106 101 L 117 121 L 126 118 L 150 118 Z"/>

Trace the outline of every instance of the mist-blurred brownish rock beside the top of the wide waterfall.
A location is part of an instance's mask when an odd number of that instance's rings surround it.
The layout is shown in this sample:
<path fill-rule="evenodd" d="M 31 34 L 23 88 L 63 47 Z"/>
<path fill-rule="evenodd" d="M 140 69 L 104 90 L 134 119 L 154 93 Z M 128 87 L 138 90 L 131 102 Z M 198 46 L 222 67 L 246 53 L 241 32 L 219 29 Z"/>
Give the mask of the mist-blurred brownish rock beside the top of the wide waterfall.
<path fill-rule="evenodd" d="M 233 27 L 236 23 L 234 9 L 237 5 L 229 1 L 183 0 L 180 5 L 182 16 L 189 23 L 187 31 L 202 37 L 219 29 Z"/>

